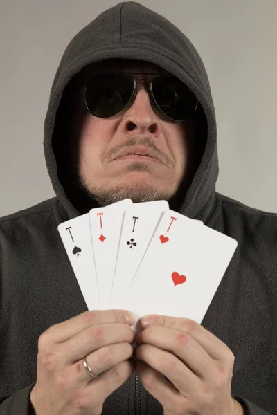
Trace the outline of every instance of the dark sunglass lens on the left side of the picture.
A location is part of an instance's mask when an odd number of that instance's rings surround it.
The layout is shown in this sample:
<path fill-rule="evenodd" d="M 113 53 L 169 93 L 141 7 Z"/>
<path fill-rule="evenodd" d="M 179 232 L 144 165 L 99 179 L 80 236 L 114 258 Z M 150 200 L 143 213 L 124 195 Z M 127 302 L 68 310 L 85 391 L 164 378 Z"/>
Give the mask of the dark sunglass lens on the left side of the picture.
<path fill-rule="evenodd" d="M 129 102 L 134 80 L 125 74 L 96 74 L 87 83 L 87 108 L 96 117 L 111 117 L 120 113 Z"/>

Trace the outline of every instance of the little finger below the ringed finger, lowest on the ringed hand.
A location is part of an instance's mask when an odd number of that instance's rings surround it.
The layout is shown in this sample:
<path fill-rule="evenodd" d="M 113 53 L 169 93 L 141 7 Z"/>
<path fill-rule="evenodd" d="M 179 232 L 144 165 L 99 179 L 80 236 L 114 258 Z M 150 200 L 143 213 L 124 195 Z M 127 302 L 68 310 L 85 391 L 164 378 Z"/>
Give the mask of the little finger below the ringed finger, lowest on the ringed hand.
<path fill-rule="evenodd" d="M 98 400 L 99 406 L 102 405 L 107 396 L 123 385 L 123 383 L 125 383 L 132 375 L 134 370 L 134 362 L 125 360 L 125 362 L 119 363 L 97 378 L 91 380 L 85 389 L 81 388 L 83 391 L 82 406 L 89 407 L 92 399 L 93 404 L 95 400 Z"/>

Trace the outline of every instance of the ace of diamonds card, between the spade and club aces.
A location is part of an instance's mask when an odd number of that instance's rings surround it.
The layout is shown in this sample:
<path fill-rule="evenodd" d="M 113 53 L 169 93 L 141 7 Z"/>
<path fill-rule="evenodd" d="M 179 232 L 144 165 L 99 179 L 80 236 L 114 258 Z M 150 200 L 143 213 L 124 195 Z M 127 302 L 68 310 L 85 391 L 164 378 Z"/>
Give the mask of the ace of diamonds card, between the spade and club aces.
<path fill-rule="evenodd" d="M 132 205 L 132 200 L 125 199 L 105 208 L 91 209 L 89 212 L 96 278 L 102 310 L 109 308 L 123 215 L 129 205 Z"/>

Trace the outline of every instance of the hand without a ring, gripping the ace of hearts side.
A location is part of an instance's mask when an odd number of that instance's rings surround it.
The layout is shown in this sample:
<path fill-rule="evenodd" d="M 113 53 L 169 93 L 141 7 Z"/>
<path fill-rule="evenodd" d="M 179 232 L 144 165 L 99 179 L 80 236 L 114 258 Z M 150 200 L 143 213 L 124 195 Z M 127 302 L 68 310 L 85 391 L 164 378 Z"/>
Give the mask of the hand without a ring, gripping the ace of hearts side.
<path fill-rule="evenodd" d="M 186 318 L 148 315 L 141 328 L 136 371 L 164 415 L 244 414 L 231 396 L 235 357 L 226 344 Z"/>

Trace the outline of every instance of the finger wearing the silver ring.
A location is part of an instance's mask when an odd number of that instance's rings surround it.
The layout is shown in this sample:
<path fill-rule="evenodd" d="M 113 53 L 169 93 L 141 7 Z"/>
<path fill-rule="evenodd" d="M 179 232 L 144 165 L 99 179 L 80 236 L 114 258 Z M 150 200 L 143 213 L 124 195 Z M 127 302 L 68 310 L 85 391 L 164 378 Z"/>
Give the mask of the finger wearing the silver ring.
<path fill-rule="evenodd" d="M 132 354 L 133 348 L 129 343 L 117 343 L 112 345 L 109 344 L 109 346 L 101 347 L 101 349 L 90 353 L 86 357 L 86 360 L 87 364 L 93 371 L 93 374 L 99 376 L 103 372 L 111 369 L 111 367 L 114 367 L 120 362 L 131 358 Z M 89 374 L 84 368 L 83 360 L 79 360 L 77 363 L 75 363 L 75 365 L 72 367 L 72 371 L 72 376 L 78 376 L 78 379 L 81 381 L 88 383 L 91 380 Z"/>

